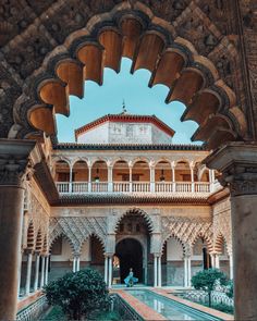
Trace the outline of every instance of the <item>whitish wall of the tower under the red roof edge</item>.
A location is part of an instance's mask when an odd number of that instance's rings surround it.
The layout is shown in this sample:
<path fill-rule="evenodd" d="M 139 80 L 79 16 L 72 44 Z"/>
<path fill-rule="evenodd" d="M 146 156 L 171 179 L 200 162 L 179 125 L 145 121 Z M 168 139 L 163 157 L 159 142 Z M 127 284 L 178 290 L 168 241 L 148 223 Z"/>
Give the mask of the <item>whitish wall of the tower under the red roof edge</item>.
<path fill-rule="evenodd" d="M 107 122 L 77 137 L 79 144 L 171 144 L 172 137 L 151 123 Z"/>

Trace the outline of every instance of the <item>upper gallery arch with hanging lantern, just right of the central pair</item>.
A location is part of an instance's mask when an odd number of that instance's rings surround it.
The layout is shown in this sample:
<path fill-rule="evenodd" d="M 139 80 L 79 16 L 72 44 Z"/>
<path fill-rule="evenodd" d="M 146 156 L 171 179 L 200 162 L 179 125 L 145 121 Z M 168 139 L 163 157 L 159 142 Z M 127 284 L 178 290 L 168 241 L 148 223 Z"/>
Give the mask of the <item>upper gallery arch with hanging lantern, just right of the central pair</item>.
<path fill-rule="evenodd" d="M 156 192 L 171 193 L 172 192 L 172 170 L 170 162 L 161 160 L 155 168 Z"/>

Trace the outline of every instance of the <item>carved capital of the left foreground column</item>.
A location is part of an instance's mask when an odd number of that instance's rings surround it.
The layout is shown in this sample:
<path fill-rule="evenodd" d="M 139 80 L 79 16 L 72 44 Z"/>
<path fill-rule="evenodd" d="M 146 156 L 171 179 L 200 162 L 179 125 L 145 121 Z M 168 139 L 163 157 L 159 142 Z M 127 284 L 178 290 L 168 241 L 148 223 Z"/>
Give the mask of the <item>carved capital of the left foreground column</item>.
<path fill-rule="evenodd" d="M 0 185 L 22 187 L 41 160 L 41 150 L 34 140 L 0 139 Z"/>

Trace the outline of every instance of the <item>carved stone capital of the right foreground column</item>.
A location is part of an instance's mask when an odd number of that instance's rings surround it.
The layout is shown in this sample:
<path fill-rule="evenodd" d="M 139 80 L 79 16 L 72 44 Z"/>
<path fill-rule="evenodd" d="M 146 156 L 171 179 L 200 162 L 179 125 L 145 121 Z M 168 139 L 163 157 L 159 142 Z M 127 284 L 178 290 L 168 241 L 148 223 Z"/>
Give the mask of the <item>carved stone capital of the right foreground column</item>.
<path fill-rule="evenodd" d="M 257 144 L 233 141 L 212 152 L 204 162 L 222 174 L 219 182 L 232 196 L 257 194 Z"/>

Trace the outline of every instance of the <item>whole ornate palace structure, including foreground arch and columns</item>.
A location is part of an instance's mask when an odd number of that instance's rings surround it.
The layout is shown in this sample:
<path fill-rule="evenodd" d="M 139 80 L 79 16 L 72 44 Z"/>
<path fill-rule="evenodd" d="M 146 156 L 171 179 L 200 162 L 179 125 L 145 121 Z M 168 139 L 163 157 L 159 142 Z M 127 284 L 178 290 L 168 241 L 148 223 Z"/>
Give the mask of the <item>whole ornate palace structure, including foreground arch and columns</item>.
<path fill-rule="evenodd" d="M 257 11 L 250 0 L 46 0 L 0 4 L 0 320 L 15 320 L 65 271 L 109 287 L 234 280 L 236 320 L 257 319 Z M 178 146 L 154 115 L 108 114 L 59 144 L 70 96 L 106 67 L 149 71 L 182 121 Z M 87 111 L 85 111 L 86 113 Z M 156 111 L 158 114 L 158 110 Z M 99 131 L 99 132 L 98 132 Z M 100 135 L 97 135 L 99 133 Z M 32 296 L 32 294 L 35 294 Z"/>

